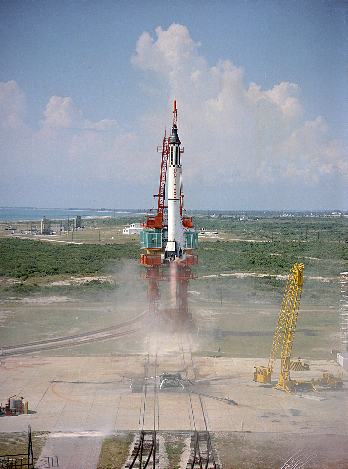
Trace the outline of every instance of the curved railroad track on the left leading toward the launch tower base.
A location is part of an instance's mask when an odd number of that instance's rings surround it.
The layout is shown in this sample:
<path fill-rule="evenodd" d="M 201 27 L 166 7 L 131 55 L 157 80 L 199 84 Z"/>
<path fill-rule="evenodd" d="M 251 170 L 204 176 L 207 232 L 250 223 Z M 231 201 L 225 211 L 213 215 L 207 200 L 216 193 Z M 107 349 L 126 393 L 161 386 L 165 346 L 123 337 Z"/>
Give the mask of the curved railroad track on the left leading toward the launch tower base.
<path fill-rule="evenodd" d="M 21 353 L 32 353 L 43 350 L 52 350 L 54 348 L 73 347 L 74 345 L 81 345 L 90 342 L 97 342 L 101 340 L 109 340 L 117 337 L 123 337 L 127 334 L 141 331 L 141 326 L 134 327 L 141 319 L 147 314 L 144 311 L 140 316 L 130 319 L 125 323 L 118 324 L 104 329 L 98 329 L 88 333 L 70 335 L 68 337 L 60 337 L 58 339 L 41 340 L 39 342 L 31 342 L 28 344 L 13 345 L 10 347 L 3 347 L 0 349 L 0 358 L 7 356 L 19 355 Z"/>

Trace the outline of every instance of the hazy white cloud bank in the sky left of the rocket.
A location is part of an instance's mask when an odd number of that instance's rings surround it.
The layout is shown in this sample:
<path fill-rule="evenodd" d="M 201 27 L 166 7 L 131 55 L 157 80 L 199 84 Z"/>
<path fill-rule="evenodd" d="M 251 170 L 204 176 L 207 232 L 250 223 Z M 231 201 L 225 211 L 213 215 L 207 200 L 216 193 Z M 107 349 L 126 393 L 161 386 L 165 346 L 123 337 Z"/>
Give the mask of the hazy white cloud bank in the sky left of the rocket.
<path fill-rule="evenodd" d="M 41 128 L 34 130 L 22 123 L 26 96 L 17 83 L 0 83 L 0 99 L 3 180 L 22 174 L 27 182 L 40 185 L 44 178 L 54 187 L 56 182 L 65 186 L 96 179 L 116 184 L 144 179 L 144 174 L 139 177 L 138 137 L 116 120 L 91 122 L 71 97 L 52 96 Z"/>

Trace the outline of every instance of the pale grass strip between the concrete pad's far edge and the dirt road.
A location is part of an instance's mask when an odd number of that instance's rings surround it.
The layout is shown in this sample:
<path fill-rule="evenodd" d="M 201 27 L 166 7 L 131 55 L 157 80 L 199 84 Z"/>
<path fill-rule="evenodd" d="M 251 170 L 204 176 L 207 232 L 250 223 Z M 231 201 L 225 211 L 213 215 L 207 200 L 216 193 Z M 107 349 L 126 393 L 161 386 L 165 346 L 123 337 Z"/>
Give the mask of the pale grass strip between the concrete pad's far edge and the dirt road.
<path fill-rule="evenodd" d="M 280 304 L 192 302 L 191 310 L 196 326 L 193 335 L 194 355 L 259 357 L 267 359 L 272 347 Z M 111 303 L 51 303 L 7 304 L 0 309 L 0 341 L 3 347 L 21 343 L 64 337 L 119 324 L 138 316 L 141 304 L 119 302 L 116 310 Z M 220 336 L 214 334 L 219 328 Z M 9 331 L 11 331 L 9 333 Z M 164 333 L 170 334 L 166 331 Z M 335 356 L 337 348 L 338 311 L 327 306 L 302 306 L 298 314 L 293 356 L 304 360 L 326 359 Z M 220 338 L 219 338 L 220 337 Z M 117 356 L 145 353 L 147 332 L 117 340 L 76 345 L 41 356 Z M 170 350 L 168 350 L 170 352 Z"/>

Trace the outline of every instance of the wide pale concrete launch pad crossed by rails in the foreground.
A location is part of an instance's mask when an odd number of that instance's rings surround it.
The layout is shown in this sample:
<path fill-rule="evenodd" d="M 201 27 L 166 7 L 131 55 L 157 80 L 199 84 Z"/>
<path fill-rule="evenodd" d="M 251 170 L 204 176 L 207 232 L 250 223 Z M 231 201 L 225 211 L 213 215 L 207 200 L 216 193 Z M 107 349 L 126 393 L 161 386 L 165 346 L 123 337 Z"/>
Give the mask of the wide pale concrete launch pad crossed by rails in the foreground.
<path fill-rule="evenodd" d="M 274 367 L 274 383 L 280 361 Z M 148 363 L 148 366 L 147 366 Z M 20 395 L 30 413 L 0 418 L 0 431 L 97 431 L 153 429 L 289 432 L 347 435 L 347 391 L 319 388 L 321 400 L 288 395 L 252 381 L 260 360 L 191 356 L 189 352 L 124 357 L 15 357 L 0 367 L 0 400 Z M 261 363 L 262 364 L 262 363 Z M 334 361 L 312 360 L 310 371 L 291 378 L 309 379 L 322 371 L 338 376 Z M 238 406 L 188 393 L 182 387 L 159 389 L 163 372 L 196 380 L 193 391 L 230 398 Z M 143 378 L 147 385 L 131 379 Z M 195 374 L 195 376 L 194 376 Z M 146 376 L 146 374 L 145 374 Z M 59 382 L 52 382 L 58 381 Z M 70 383 L 67 383 L 69 381 Z M 130 387 L 132 385 L 132 387 Z M 346 384 L 347 386 L 347 384 Z M 194 422 L 193 422 L 194 419 Z"/>

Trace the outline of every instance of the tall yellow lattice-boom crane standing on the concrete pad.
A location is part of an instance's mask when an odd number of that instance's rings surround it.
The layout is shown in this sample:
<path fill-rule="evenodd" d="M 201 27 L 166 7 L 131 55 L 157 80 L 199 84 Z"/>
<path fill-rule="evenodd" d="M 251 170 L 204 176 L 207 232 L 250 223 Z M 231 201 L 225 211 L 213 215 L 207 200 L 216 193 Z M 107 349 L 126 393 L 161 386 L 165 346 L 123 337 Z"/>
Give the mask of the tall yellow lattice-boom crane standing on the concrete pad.
<path fill-rule="evenodd" d="M 271 383 L 275 360 L 281 347 L 281 374 L 278 384 L 274 389 L 282 389 L 291 394 L 290 389 L 296 386 L 299 381 L 290 379 L 290 356 L 292 344 L 294 342 L 298 308 L 300 306 L 302 285 L 303 285 L 303 264 L 295 264 L 290 270 L 288 282 L 285 288 L 281 312 L 278 318 L 278 324 L 275 329 L 271 354 L 267 366 L 254 367 L 254 381 L 259 383 Z M 302 381 L 301 384 L 310 386 L 314 391 L 315 387 L 310 381 Z"/>

